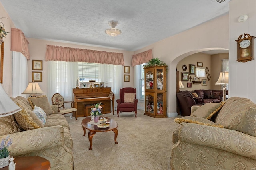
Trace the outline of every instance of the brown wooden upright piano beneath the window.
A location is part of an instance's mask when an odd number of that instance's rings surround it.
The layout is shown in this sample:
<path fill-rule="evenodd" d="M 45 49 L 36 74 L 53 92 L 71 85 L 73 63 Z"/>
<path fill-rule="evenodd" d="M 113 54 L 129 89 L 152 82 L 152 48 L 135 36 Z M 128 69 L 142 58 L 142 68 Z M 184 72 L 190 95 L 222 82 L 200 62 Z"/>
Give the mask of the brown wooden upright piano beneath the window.
<path fill-rule="evenodd" d="M 73 89 L 74 94 L 74 107 L 77 109 L 77 117 L 84 117 L 86 113 L 84 113 L 84 105 L 91 105 L 95 103 L 104 103 L 105 113 L 111 113 L 111 104 L 112 104 L 112 111 L 114 115 L 114 99 L 113 97 L 108 97 L 111 92 L 110 87 L 103 87 L 103 88 L 77 88 Z M 88 108 L 88 115 L 90 116 L 90 108 Z"/>

